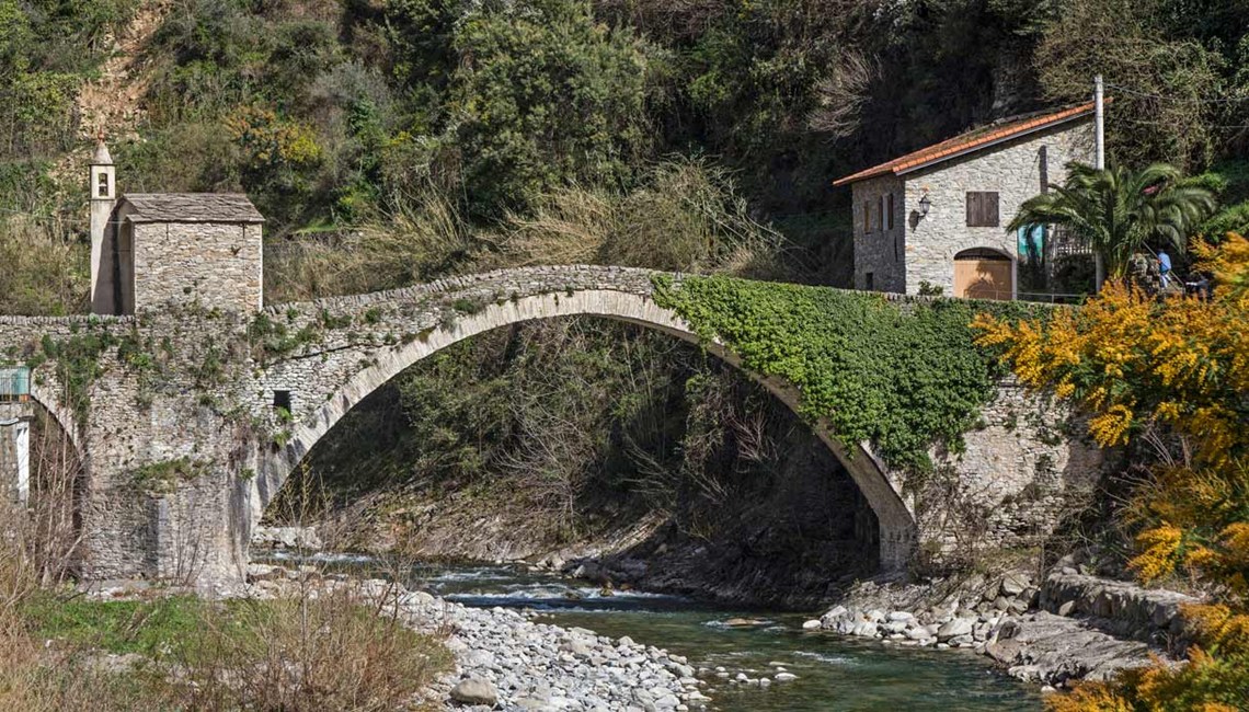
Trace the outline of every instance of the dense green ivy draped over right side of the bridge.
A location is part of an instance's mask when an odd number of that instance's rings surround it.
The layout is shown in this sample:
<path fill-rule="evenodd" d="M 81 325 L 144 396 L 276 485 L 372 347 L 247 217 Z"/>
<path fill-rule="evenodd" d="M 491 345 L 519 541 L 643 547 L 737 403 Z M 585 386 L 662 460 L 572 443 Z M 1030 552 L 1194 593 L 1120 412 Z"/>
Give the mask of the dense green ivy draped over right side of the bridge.
<path fill-rule="evenodd" d="M 779 376 L 799 412 L 828 418 L 847 443 L 871 441 L 893 467 L 927 471 L 929 448 L 963 447 L 1002 370 L 975 346 L 977 314 L 1023 316 L 1044 307 L 967 300 L 889 301 L 828 287 L 687 277 L 657 282 L 656 301 L 698 336 L 718 339 L 744 367 Z"/>

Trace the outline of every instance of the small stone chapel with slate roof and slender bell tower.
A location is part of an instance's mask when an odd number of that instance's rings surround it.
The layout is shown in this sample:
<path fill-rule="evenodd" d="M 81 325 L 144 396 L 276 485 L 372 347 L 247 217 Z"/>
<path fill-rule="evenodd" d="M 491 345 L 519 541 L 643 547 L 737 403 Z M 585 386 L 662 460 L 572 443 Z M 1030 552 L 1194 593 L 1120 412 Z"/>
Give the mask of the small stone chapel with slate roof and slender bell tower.
<path fill-rule="evenodd" d="M 91 161 L 91 311 L 166 304 L 264 307 L 265 219 L 241 194 L 116 195 L 101 141 Z"/>

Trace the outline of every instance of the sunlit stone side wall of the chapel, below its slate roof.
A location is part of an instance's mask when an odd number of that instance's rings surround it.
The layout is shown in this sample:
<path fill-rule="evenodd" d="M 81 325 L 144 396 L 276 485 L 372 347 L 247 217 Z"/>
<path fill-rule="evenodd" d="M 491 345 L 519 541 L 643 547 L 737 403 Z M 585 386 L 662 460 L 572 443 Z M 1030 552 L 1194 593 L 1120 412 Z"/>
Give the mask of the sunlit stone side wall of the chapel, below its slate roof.
<path fill-rule="evenodd" d="M 135 306 L 199 304 L 250 314 L 264 307 L 261 225 L 134 224 Z"/>

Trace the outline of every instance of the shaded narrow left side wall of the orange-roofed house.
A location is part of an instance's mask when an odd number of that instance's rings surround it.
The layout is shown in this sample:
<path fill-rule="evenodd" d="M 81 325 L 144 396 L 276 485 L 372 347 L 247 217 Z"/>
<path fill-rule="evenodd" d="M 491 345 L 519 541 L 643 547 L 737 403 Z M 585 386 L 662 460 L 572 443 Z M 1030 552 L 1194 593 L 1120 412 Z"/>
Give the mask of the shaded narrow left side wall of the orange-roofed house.
<path fill-rule="evenodd" d="M 893 195 L 893 229 L 888 227 L 888 196 Z M 882 197 L 883 215 L 882 217 Z M 863 211 L 871 219 L 867 229 Z M 854 289 L 882 292 L 907 291 L 906 196 L 902 179 L 893 175 L 854 184 Z M 872 285 L 868 286 L 868 275 Z"/>

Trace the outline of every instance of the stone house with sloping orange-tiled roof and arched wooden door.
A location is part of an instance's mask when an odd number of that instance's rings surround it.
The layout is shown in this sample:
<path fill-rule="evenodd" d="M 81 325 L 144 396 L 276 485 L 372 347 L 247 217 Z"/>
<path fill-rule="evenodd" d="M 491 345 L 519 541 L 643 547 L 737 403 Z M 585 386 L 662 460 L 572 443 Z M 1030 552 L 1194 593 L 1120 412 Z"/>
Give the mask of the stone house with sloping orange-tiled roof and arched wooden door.
<path fill-rule="evenodd" d="M 853 187 L 854 289 L 1015 299 L 1019 265 L 1054 236 L 1005 225 L 1069 162 L 1093 162 L 1093 115 L 1089 102 L 1007 119 L 834 181 Z"/>

